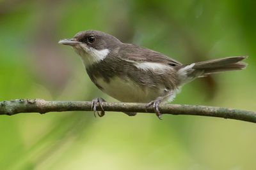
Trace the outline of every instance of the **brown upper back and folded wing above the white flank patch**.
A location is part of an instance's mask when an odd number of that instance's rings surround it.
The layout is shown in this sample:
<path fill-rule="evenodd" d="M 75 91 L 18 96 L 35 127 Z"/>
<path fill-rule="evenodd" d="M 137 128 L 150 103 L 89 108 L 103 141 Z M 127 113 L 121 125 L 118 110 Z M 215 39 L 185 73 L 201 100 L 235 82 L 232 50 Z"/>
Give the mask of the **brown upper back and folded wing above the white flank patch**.
<path fill-rule="evenodd" d="M 162 53 L 132 44 L 123 44 L 119 53 L 122 54 L 122 59 L 135 62 L 157 62 L 168 64 L 173 67 L 182 65 L 179 61 L 171 59 Z"/>

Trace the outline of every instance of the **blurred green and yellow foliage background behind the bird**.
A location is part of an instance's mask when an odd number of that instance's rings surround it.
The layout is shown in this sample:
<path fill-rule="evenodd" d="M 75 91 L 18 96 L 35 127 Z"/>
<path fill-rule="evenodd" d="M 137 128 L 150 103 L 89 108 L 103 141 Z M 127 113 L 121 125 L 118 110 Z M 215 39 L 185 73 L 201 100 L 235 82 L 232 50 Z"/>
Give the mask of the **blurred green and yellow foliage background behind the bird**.
<path fill-rule="evenodd" d="M 249 55 L 248 68 L 198 79 L 173 103 L 256 111 L 256 1 L 1 0 L 0 101 L 103 94 L 58 40 L 96 29 L 183 63 Z M 256 125 L 108 112 L 0 117 L 0 169 L 255 169 Z"/>

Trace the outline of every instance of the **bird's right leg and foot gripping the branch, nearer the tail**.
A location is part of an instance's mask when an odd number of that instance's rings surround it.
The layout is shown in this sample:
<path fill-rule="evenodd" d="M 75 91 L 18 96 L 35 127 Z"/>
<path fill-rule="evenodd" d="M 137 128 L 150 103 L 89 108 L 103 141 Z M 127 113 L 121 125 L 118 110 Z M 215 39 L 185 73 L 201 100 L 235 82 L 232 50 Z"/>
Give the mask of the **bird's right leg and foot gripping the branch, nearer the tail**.
<path fill-rule="evenodd" d="M 171 97 L 173 95 L 173 90 L 168 90 L 166 91 L 166 94 L 164 94 L 164 96 L 161 97 L 157 97 L 154 101 L 150 101 L 150 103 L 148 103 L 146 105 L 146 110 L 148 107 L 152 106 L 154 107 L 155 113 L 157 115 L 157 117 L 162 120 L 162 114 L 159 111 L 159 104 L 164 101 L 165 99 L 168 99 L 169 97 Z"/>

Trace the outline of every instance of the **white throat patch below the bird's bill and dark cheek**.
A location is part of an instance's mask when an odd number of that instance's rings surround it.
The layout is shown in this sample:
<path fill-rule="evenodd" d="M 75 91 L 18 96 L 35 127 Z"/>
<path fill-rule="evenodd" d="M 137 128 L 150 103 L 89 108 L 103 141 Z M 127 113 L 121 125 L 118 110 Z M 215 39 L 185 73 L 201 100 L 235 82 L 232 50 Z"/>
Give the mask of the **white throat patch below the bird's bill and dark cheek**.
<path fill-rule="evenodd" d="M 92 66 L 93 64 L 104 60 L 109 53 L 108 49 L 96 50 L 86 45 L 81 46 L 81 48 L 75 47 L 74 50 L 81 56 L 84 66 Z"/>

